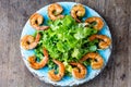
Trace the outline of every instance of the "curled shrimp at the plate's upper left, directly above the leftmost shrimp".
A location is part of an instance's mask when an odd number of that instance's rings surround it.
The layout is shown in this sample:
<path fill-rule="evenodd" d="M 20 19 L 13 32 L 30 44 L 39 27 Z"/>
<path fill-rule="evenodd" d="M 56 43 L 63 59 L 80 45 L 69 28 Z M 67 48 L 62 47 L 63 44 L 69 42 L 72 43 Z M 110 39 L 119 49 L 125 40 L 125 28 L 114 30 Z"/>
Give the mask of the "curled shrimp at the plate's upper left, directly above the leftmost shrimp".
<path fill-rule="evenodd" d="M 31 25 L 37 29 L 37 30 L 45 30 L 47 28 L 49 28 L 49 26 L 40 26 L 44 22 L 44 17 L 43 15 L 38 14 L 38 13 L 34 13 L 31 17 L 29 17 L 29 23 Z"/>

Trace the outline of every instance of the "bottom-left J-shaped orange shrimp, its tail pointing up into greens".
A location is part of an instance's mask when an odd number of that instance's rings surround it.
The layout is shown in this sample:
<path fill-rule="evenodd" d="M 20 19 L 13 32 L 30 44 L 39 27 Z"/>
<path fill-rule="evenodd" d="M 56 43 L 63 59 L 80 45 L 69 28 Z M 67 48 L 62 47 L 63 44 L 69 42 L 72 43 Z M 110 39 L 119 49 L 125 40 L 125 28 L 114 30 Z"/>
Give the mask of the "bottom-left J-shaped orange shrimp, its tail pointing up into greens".
<path fill-rule="evenodd" d="M 64 76 L 66 67 L 60 61 L 53 60 L 53 62 L 59 66 L 59 73 L 55 74 L 55 70 L 48 72 L 48 76 L 51 80 L 58 82 Z"/>

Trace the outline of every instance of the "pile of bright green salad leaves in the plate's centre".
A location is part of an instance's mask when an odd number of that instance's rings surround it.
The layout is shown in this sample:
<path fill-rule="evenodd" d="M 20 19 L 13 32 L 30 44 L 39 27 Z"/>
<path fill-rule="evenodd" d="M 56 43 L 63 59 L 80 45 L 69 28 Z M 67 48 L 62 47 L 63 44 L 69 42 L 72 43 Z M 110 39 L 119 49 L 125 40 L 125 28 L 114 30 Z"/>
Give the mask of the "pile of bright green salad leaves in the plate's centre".
<path fill-rule="evenodd" d="M 44 58 L 43 48 L 49 53 L 48 67 L 56 69 L 52 59 L 63 62 L 67 74 L 71 72 L 70 62 L 78 62 L 87 52 L 97 50 L 98 40 L 90 41 L 88 37 L 97 34 L 92 26 L 84 26 L 83 23 L 76 23 L 71 15 L 63 18 L 48 21 L 50 28 L 47 30 L 37 30 L 41 35 L 38 46 L 35 48 L 37 61 Z M 84 65 L 90 64 L 90 60 L 83 62 Z"/>

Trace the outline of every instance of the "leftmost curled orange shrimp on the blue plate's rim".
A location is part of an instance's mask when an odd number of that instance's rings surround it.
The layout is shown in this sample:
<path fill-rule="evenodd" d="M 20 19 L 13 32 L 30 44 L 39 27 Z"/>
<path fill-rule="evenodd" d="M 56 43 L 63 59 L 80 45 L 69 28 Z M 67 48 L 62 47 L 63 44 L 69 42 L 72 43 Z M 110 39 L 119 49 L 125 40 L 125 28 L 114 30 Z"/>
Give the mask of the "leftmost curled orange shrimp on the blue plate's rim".
<path fill-rule="evenodd" d="M 36 38 L 34 38 L 32 35 L 25 35 L 22 39 L 21 39 L 21 46 L 25 49 L 25 50 L 29 50 L 29 49 L 34 49 L 38 41 L 40 39 L 40 34 L 36 35 Z"/>

